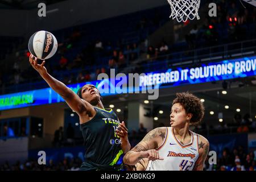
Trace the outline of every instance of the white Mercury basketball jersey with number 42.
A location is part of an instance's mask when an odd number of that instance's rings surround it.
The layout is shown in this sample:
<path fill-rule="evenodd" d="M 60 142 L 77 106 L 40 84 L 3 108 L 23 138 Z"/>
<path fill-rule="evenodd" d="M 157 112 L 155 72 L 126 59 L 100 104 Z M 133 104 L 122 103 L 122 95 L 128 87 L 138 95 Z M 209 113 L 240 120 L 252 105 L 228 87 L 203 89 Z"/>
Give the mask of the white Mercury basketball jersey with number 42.
<path fill-rule="evenodd" d="M 191 142 L 183 145 L 175 137 L 174 129 L 166 127 L 166 138 L 162 146 L 156 149 L 164 160 L 148 161 L 146 171 L 192 171 L 199 157 L 199 136 L 189 132 Z"/>

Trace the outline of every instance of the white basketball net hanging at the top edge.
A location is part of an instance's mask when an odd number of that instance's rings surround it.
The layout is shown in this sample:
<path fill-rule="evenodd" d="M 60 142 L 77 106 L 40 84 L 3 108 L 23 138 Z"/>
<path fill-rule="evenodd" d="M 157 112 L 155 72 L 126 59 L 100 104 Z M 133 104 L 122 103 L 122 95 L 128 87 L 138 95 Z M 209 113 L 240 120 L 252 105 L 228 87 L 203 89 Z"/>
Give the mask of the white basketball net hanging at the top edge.
<path fill-rule="evenodd" d="M 198 10 L 200 6 L 200 0 L 167 0 L 171 5 L 170 18 L 177 19 L 177 22 L 186 22 L 189 19 L 195 17 L 200 19 Z"/>

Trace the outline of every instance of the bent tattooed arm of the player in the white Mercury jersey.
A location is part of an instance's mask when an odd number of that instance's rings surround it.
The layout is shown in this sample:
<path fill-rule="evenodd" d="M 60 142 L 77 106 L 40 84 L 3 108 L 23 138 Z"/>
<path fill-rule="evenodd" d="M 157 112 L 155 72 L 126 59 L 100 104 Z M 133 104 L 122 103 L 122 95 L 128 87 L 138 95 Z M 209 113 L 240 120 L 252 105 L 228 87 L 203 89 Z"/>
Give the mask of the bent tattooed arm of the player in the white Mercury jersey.
<path fill-rule="evenodd" d="M 127 152 L 127 154 L 123 157 L 123 163 L 135 165 L 143 158 L 148 158 L 148 160 L 163 160 L 163 158 L 159 157 L 158 151 L 155 150 L 158 147 L 157 139 L 159 137 L 159 133 L 159 128 L 151 130 L 149 133 L 147 133 L 147 135 L 142 139 L 141 142 L 137 144 L 137 146 Z"/>

